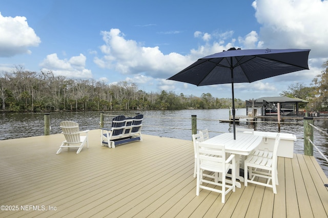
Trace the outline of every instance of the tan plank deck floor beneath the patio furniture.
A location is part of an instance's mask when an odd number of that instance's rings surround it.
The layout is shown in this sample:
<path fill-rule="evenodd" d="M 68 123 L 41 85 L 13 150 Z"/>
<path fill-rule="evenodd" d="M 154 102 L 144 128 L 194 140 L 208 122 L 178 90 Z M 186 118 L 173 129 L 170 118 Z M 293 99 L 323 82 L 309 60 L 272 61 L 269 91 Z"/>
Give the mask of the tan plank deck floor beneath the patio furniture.
<path fill-rule="evenodd" d="M 278 160 L 277 194 L 254 184 L 221 203 L 196 196 L 192 141 L 143 135 L 109 149 L 56 151 L 60 134 L 0 141 L 0 217 L 327 217 L 328 179 L 315 158 Z M 16 207 L 17 206 L 17 207 Z M 13 210 L 16 209 L 16 210 Z"/>

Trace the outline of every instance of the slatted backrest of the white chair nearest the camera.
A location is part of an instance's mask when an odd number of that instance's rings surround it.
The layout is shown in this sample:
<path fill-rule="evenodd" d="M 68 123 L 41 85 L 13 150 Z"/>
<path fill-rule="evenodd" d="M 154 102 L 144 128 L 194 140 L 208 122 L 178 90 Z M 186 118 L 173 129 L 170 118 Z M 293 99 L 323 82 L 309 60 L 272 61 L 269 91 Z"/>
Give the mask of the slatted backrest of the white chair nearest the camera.
<path fill-rule="evenodd" d="M 222 169 L 226 168 L 226 149 L 223 144 L 208 144 L 196 141 L 196 156 L 197 164 L 204 162 L 210 167 L 222 164 Z"/>

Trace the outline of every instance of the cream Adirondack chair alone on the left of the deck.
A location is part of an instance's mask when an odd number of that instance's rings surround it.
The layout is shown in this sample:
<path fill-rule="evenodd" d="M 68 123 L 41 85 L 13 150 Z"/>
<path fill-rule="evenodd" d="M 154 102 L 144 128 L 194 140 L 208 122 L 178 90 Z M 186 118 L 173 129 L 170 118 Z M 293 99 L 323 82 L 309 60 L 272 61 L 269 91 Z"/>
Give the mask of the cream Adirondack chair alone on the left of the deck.
<path fill-rule="evenodd" d="M 88 144 L 88 132 L 89 130 L 79 131 L 78 124 L 72 121 L 63 121 L 60 123 L 60 128 L 64 134 L 65 141 L 61 143 L 59 150 L 56 154 L 59 154 L 63 148 L 78 148 L 76 154 L 80 153 L 84 144 L 87 142 L 87 147 L 89 148 Z M 85 133 L 85 136 L 81 136 L 81 133 Z"/>

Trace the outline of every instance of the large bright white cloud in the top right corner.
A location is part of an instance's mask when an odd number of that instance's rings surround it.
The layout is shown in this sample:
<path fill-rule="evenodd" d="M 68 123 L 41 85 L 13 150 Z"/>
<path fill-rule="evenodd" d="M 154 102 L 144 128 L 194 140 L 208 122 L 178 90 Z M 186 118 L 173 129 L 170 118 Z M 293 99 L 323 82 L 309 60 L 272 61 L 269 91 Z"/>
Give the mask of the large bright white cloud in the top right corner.
<path fill-rule="evenodd" d="M 328 57 L 328 1 L 257 0 L 253 7 L 262 46 L 311 49 L 312 57 Z"/>

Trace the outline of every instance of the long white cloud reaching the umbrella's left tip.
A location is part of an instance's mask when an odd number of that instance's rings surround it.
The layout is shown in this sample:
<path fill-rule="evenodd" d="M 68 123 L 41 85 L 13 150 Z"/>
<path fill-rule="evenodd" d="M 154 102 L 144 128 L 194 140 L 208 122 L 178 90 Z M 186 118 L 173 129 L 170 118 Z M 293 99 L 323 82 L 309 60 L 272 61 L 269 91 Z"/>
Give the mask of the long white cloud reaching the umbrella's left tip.
<path fill-rule="evenodd" d="M 118 29 L 101 32 L 104 45 L 100 46 L 104 54 L 94 58 L 101 68 L 115 69 L 121 74 L 145 74 L 154 78 L 166 78 L 190 64 L 189 56 L 177 53 L 164 55 L 158 46 L 141 46 L 134 40 L 127 40 Z"/>

